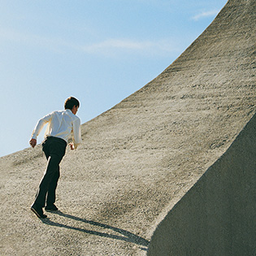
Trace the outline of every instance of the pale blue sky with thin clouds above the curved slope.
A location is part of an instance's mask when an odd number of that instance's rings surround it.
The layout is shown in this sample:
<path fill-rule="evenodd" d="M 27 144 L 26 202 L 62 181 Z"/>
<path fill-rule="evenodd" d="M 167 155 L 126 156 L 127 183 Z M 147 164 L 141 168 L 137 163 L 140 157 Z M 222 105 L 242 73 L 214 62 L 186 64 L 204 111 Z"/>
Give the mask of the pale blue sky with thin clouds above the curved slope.
<path fill-rule="evenodd" d="M 0 0 L 0 156 L 27 148 L 37 120 L 69 96 L 84 124 L 141 89 L 226 2 Z"/>

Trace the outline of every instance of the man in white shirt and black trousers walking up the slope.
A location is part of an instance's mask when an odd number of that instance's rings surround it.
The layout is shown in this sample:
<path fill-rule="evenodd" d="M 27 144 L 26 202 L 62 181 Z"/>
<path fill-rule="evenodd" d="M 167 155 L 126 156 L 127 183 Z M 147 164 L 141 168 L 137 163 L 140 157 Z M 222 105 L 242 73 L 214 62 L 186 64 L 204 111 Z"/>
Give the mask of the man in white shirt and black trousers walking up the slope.
<path fill-rule="evenodd" d="M 72 135 L 71 150 L 75 150 L 81 142 L 80 119 L 76 116 L 79 101 L 76 98 L 67 98 L 64 104 L 64 111 L 54 111 L 40 119 L 33 130 L 32 139 L 29 144 L 32 147 L 37 145 L 37 136 L 45 124 L 46 138 L 42 143 L 42 150 L 46 154 L 47 167 L 42 177 L 37 195 L 31 210 L 38 218 L 46 218 L 42 208 L 46 210 L 58 210 L 54 205 L 55 192 L 59 180 L 59 163 L 61 162 L 67 147 L 67 140 Z"/>

